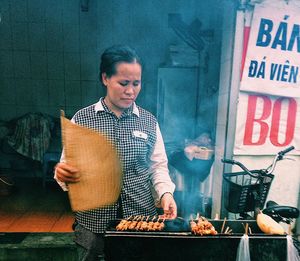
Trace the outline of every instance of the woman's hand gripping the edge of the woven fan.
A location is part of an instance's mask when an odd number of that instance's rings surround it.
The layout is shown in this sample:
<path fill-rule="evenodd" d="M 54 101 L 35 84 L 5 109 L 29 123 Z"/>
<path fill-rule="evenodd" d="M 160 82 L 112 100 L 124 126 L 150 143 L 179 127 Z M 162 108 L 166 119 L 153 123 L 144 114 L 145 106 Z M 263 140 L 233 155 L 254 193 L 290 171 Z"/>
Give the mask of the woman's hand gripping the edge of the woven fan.
<path fill-rule="evenodd" d="M 65 183 L 75 183 L 80 180 L 78 169 L 64 162 L 59 162 L 55 166 L 56 178 Z"/>

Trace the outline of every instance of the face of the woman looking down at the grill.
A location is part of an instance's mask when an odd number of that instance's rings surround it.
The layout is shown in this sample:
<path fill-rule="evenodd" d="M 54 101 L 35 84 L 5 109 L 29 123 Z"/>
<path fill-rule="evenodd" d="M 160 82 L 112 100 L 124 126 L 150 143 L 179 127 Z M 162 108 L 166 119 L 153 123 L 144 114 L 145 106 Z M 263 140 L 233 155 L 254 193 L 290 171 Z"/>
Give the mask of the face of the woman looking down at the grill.
<path fill-rule="evenodd" d="M 102 74 L 102 82 L 107 88 L 105 103 L 117 116 L 136 100 L 141 90 L 141 78 L 139 63 L 122 62 L 116 65 L 116 73 L 111 77 Z"/>

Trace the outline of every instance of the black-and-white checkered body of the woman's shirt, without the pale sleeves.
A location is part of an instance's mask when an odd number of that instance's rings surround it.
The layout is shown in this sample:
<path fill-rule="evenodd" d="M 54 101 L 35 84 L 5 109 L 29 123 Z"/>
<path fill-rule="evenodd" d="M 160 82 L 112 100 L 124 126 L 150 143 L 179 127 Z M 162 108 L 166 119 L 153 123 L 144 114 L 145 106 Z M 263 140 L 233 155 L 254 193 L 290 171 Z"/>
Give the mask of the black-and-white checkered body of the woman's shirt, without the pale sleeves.
<path fill-rule="evenodd" d="M 115 145 L 123 165 L 123 186 L 119 201 L 123 216 L 157 215 L 149 174 L 149 158 L 157 138 L 156 118 L 135 104 L 118 118 L 108 109 L 103 98 L 100 102 L 102 110 L 95 108 L 99 106 L 96 103 L 78 111 L 72 121 L 101 132 Z M 138 113 L 134 113 L 133 108 Z M 104 208 L 76 212 L 76 219 L 92 232 L 103 233 L 109 221 L 116 219 L 119 202 Z"/>

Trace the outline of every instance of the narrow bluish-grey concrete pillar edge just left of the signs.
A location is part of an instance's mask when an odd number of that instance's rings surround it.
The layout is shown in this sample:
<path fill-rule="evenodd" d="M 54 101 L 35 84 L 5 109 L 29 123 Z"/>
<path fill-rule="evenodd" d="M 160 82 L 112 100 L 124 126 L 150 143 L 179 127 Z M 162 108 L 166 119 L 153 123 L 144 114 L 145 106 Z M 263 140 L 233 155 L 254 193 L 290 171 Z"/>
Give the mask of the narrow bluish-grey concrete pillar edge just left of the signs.
<path fill-rule="evenodd" d="M 227 142 L 233 140 L 234 134 L 228 133 L 228 119 L 232 115 L 230 104 L 234 105 L 234 97 L 231 97 L 232 88 L 232 73 L 235 69 L 234 64 L 234 47 L 235 47 L 235 23 L 236 23 L 236 6 L 233 2 L 227 2 L 224 5 L 224 15 L 222 26 L 222 53 L 221 53 L 221 71 L 218 96 L 218 116 L 216 122 L 216 149 L 215 162 L 213 164 L 213 209 L 212 215 L 219 214 L 224 218 L 222 210 L 222 173 L 223 164 L 221 159 L 226 153 L 225 148 Z M 238 41 L 238 39 L 237 39 Z M 230 115 L 231 114 L 231 115 Z"/>

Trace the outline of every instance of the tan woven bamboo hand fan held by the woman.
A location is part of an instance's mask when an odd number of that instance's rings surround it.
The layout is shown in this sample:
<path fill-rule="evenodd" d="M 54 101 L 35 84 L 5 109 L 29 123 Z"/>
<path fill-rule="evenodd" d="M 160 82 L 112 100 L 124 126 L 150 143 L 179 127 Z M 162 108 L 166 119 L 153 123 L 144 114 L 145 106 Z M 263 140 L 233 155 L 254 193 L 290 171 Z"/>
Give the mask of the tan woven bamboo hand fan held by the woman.
<path fill-rule="evenodd" d="M 100 133 L 61 116 L 65 159 L 79 170 L 80 181 L 69 183 L 72 210 L 84 211 L 115 203 L 120 195 L 122 171 L 112 144 Z"/>

